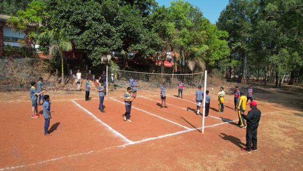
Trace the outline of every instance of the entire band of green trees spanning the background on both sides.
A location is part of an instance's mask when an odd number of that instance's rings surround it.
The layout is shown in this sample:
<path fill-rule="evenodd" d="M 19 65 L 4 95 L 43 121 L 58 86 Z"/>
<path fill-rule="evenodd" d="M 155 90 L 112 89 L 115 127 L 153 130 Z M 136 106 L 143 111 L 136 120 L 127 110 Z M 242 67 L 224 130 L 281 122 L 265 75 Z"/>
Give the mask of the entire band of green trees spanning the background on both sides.
<path fill-rule="evenodd" d="M 127 69 L 129 52 L 154 66 L 174 51 L 181 73 L 216 69 L 242 83 L 252 74 L 276 86 L 287 76 L 290 84 L 303 79 L 302 0 L 230 0 L 216 25 L 181 0 L 170 7 L 155 0 L 8 2 L 24 3 L 8 24 L 62 62 L 62 51 L 71 49 L 85 52 L 93 65 L 120 51 Z"/>

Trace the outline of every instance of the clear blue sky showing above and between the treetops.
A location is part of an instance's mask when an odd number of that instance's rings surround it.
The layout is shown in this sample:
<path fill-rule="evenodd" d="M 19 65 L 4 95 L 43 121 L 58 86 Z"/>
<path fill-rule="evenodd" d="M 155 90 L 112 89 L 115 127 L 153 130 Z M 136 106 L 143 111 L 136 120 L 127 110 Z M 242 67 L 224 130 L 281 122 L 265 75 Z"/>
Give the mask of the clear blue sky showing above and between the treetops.
<path fill-rule="evenodd" d="M 159 6 L 170 6 L 172 0 L 156 0 Z M 183 0 L 189 2 L 191 5 L 196 6 L 203 12 L 203 15 L 215 24 L 218 21 L 220 13 L 225 9 L 228 0 Z"/>

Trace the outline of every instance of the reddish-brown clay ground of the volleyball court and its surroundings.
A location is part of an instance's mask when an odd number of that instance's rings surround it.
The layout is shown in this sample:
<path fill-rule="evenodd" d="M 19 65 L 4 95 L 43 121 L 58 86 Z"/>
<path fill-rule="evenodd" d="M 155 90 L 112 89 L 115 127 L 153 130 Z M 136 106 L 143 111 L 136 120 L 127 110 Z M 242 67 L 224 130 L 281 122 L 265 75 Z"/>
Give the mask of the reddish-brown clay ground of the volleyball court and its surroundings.
<path fill-rule="evenodd" d="M 274 93 L 280 97 L 281 92 Z M 160 109 L 159 96 L 140 93 L 145 98 L 133 102 L 140 110 L 132 108 L 133 122 L 128 123 L 121 116 L 124 105 L 111 98 L 105 100 L 106 113 L 97 111 L 95 92 L 89 102 L 83 100 L 83 92 L 48 94 L 52 98 L 51 137 L 43 136 L 43 117 L 30 118 L 27 92 L 0 95 L 0 170 L 303 170 L 302 109 L 290 108 L 278 99 L 277 103 L 265 102 L 261 100 L 264 94 L 256 96 L 263 114 L 258 151 L 250 154 L 240 150 L 245 130 L 235 125 L 237 121 L 225 120 L 237 119 L 232 96 L 226 97 L 223 114 L 215 111 L 213 98 L 210 115 L 218 118 L 206 118 L 205 125 L 211 127 L 201 134 L 196 129 L 201 127 L 201 116 L 192 111 L 194 103 L 185 101 L 191 96 L 185 95 L 184 100 L 169 97 L 168 109 Z M 111 97 L 122 102 L 122 95 L 123 91 L 117 91 Z M 88 112 L 71 99 L 79 99 L 74 101 Z"/>

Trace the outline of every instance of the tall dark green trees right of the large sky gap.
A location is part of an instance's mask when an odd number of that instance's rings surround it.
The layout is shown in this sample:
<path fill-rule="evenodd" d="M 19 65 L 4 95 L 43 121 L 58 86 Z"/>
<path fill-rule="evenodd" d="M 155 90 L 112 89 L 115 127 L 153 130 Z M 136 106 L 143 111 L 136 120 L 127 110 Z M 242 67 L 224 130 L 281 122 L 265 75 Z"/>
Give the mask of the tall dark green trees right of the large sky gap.
<path fill-rule="evenodd" d="M 217 27 L 229 33 L 227 77 L 248 74 L 281 86 L 303 79 L 303 1 L 230 0 Z M 232 62 L 235 61 L 235 62 Z M 236 64 L 236 65 L 233 65 Z M 290 75 L 289 75 L 290 74 Z"/>

